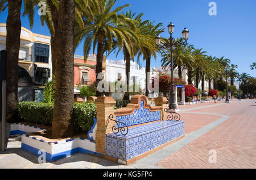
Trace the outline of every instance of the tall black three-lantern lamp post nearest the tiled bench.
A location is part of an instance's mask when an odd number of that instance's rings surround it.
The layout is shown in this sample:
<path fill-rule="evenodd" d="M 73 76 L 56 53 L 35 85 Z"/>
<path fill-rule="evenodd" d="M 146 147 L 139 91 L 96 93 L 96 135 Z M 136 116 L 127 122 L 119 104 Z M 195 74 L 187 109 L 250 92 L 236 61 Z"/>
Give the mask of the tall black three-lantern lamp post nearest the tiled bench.
<path fill-rule="evenodd" d="M 170 34 L 170 38 L 169 41 L 165 44 L 163 44 L 162 46 L 160 46 L 161 44 L 161 37 L 158 35 L 155 37 L 155 43 L 156 45 L 158 45 L 159 49 L 162 48 L 166 48 L 168 50 L 171 51 L 171 90 L 169 90 L 168 93 L 168 103 L 169 103 L 169 110 L 168 112 L 177 112 L 177 104 L 175 103 L 175 91 L 174 91 L 174 60 L 173 60 L 173 48 L 176 44 L 180 44 L 180 45 L 187 45 L 187 40 L 188 40 L 188 35 L 189 35 L 189 31 L 187 28 L 184 28 L 184 30 L 182 31 L 182 35 L 183 35 L 183 39 L 184 42 L 180 43 L 179 41 L 176 41 L 174 39 L 174 37 L 172 37 L 172 33 L 174 32 L 174 24 L 170 23 L 168 25 L 168 32 Z"/>

